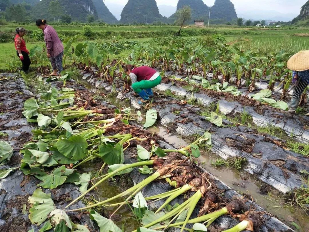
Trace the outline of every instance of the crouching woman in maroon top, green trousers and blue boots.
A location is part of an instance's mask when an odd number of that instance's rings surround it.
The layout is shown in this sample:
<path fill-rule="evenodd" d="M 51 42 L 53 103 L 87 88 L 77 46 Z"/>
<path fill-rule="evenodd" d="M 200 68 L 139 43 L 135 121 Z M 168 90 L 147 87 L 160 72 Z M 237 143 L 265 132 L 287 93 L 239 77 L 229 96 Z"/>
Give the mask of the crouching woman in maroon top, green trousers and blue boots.
<path fill-rule="evenodd" d="M 142 98 L 138 101 L 139 104 L 146 102 L 149 97 L 154 94 L 152 88 L 161 83 L 160 74 L 148 66 L 136 67 L 135 65 L 128 64 L 125 66 L 125 73 L 130 76 L 132 80 L 132 88 L 134 92 Z"/>

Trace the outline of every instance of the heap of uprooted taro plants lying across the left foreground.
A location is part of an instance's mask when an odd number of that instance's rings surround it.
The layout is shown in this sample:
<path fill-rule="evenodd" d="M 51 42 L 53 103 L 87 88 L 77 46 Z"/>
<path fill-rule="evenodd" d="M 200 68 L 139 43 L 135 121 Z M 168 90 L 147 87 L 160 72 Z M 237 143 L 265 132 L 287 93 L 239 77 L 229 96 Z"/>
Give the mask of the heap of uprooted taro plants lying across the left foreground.
<path fill-rule="evenodd" d="M 89 231 L 87 225 L 72 222 L 69 215 L 72 211 L 85 211 L 90 213 L 90 218 L 97 222 L 100 231 L 121 231 L 111 219 L 101 216 L 93 208 L 102 205 L 106 208 L 117 207 L 114 213 L 126 204 L 133 208 L 147 208 L 148 202 L 166 199 L 165 203 L 155 212 L 144 211 L 142 221 L 151 221 L 142 225 L 138 231 L 166 229 L 180 227 L 181 231 L 188 230 L 187 224 L 193 223 L 193 228 L 206 228 L 218 217 L 225 214 L 236 215 L 242 210 L 243 202 L 233 200 L 228 204 L 220 204 L 221 199 L 208 174 L 202 173 L 195 165 L 195 158 L 200 156 L 198 145 L 211 144 L 211 135 L 205 132 L 192 144 L 180 149 L 161 149 L 155 140 L 149 140 L 143 135 L 141 129 L 130 126 L 128 122 L 133 119 L 131 109 L 114 110 L 100 105 L 87 94 L 73 88 L 55 87 L 42 91 L 38 100 L 30 98 L 24 103 L 23 115 L 28 122 L 36 123 L 38 129 L 33 130 L 34 137 L 20 150 L 23 159 L 19 169 L 25 175 L 32 175 L 41 182 L 37 185 L 45 189 L 55 189 L 64 183 L 73 183 L 83 192 L 78 198 L 71 201 L 65 208 L 57 208 L 50 194 L 37 188 L 28 202 L 29 219 L 33 224 L 43 226 L 40 231 L 53 228 L 54 231 Z M 138 112 L 141 116 L 141 113 Z M 154 110 L 146 113 L 144 127 L 155 123 L 157 114 Z M 213 112 L 208 119 L 211 124 L 222 125 L 222 118 Z M 124 164 L 124 152 L 132 144 L 137 148 L 137 162 Z M 140 144 L 149 144 L 150 151 Z M 2 165 L 11 160 L 13 148 L 1 141 Z M 78 166 L 95 158 L 104 161 L 98 175 L 79 173 Z M 108 172 L 103 173 L 103 168 L 108 165 Z M 103 201 L 83 208 L 69 209 L 78 200 L 90 191 L 95 191 L 99 184 L 115 175 L 130 173 L 136 167 L 149 166 L 154 171 L 149 177 L 128 190 Z M 2 169 L 1 178 L 5 178 L 18 168 Z M 166 193 L 144 198 L 141 190 L 153 181 L 166 180 L 174 188 Z M 96 182 L 96 183 L 95 183 Z M 89 187 L 90 184 L 93 184 Z M 191 194 L 192 193 L 192 194 Z M 190 195 L 188 200 L 180 205 L 175 205 L 173 210 L 163 213 L 163 208 L 169 205 L 181 194 Z M 123 201 L 123 198 L 125 201 Z M 119 202 L 119 203 L 115 203 Z M 201 206 L 199 206 L 201 205 Z M 193 211 L 200 207 L 198 217 L 190 219 Z M 223 208 L 222 208 L 223 207 Z M 112 215 L 114 214 L 112 213 Z M 247 213 L 249 214 L 249 212 Z M 242 215 L 244 221 L 238 229 L 253 231 L 251 217 Z M 110 217 L 112 217 L 112 215 Z M 156 220 L 152 219 L 152 215 Z M 258 216 L 257 216 L 258 217 Z M 182 222 L 177 222 L 184 218 Z M 167 224 L 163 222 L 169 221 Z M 207 223 L 206 225 L 200 222 Z M 162 224 L 163 223 L 163 224 Z M 164 226 L 162 226 L 164 225 Z M 233 230 L 234 231 L 234 230 Z"/>

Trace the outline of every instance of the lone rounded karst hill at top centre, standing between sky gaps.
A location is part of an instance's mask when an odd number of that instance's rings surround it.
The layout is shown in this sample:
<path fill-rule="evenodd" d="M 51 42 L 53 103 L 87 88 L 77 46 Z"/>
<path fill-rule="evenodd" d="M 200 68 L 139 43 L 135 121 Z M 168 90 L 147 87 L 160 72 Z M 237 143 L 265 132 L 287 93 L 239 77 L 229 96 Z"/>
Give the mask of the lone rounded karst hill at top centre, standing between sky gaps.
<path fill-rule="evenodd" d="M 129 0 L 121 12 L 120 23 L 146 23 L 146 16 L 144 15 L 147 15 L 147 23 L 165 22 L 167 20 L 159 13 L 155 0 Z"/>

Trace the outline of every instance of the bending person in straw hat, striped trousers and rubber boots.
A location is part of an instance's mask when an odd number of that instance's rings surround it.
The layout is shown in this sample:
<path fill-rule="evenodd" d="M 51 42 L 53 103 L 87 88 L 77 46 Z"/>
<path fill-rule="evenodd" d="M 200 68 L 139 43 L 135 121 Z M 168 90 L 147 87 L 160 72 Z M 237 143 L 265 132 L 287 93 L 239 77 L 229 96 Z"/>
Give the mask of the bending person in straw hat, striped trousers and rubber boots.
<path fill-rule="evenodd" d="M 287 67 L 293 71 L 292 83 L 295 84 L 289 111 L 295 111 L 300 97 L 309 84 L 309 51 L 300 51 L 287 62 Z"/>

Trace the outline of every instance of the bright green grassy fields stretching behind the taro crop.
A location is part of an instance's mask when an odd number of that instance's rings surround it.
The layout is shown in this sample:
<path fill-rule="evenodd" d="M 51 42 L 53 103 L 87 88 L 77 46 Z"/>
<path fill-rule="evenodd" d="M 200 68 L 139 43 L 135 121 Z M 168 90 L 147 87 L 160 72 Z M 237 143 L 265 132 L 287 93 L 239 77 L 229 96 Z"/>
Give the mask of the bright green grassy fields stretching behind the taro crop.
<path fill-rule="evenodd" d="M 14 32 L 17 24 L 8 24 L 0 26 L 0 32 Z M 53 25 L 59 32 L 62 39 L 70 38 L 77 35 L 79 41 L 95 40 L 98 43 L 102 41 L 138 41 L 147 43 L 153 37 L 167 37 L 177 32 L 176 26 L 106 26 L 91 25 L 95 34 L 93 37 L 85 37 L 83 35 L 83 24 L 79 25 Z M 27 30 L 38 30 L 34 24 L 23 25 Z M 184 38 L 201 38 L 206 39 L 207 36 L 213 34 L 222 34 L 228 44 L 236 46 L 242 50 L 253 50 L 260 52 L 276 53 L 285 50 L 288 53 L 296 53 L 299 50 L 308 50 L 309 34 L 306 28 L 239 28 L 239 27 L 211 27 L 211 28 L 195 28 L 192 26 L 183 29 Z M 14 34 L 13 34 L 14 35 Z M 305 35 L 305 36 L 297 36 Z M 44 45 L 44 42 L 36 42 L 30 37 L 25 37 L 28 49 L 35 45 Z M 120 57 L 125 58 L 131 53 L 130 50 L 123 50 Z M 13 71 L 11 67 L 20 65 L 20 61 L 16 56 L 14 43 L 1 43 L 0 49 L 0 70 Z"/>

